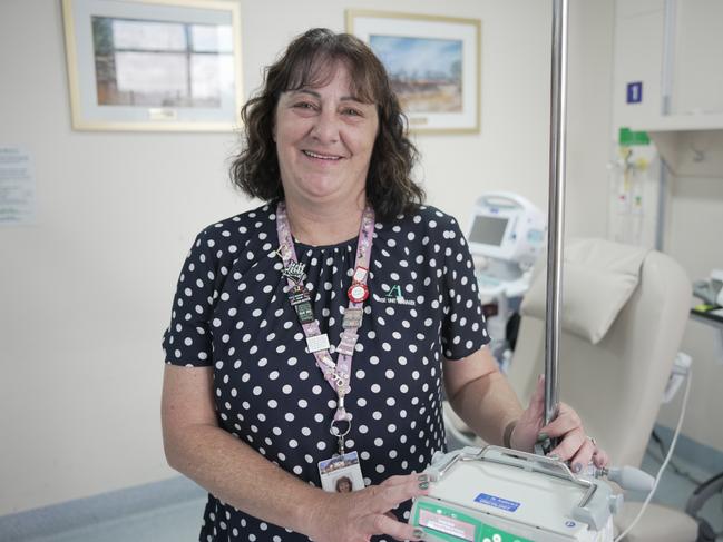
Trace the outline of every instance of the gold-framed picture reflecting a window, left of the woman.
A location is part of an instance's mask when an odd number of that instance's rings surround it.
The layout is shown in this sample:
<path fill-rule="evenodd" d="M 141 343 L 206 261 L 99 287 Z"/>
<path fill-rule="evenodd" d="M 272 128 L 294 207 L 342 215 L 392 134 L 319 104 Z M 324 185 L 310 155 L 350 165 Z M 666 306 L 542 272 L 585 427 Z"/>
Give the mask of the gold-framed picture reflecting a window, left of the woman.
<path fill-rule="evenodd" d="M 241 12 L 226 0 L 62 0 L 72 127 L 238 127 Z"/>

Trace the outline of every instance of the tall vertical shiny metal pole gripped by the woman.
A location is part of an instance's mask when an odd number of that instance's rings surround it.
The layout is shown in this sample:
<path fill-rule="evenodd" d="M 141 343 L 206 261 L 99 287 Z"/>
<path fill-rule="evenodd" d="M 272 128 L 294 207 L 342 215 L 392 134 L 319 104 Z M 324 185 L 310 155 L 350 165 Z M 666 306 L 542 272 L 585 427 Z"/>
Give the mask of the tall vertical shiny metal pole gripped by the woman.
<path fill-rule="evenodd" d="M 547 304 L 545 318 L 545 425 L 557 416 L 563 234 L 565 226 L 565 157 L 567 147 L 568 0 L 553 1 L 550 80 L 550 157 L 547 228 Z"/>

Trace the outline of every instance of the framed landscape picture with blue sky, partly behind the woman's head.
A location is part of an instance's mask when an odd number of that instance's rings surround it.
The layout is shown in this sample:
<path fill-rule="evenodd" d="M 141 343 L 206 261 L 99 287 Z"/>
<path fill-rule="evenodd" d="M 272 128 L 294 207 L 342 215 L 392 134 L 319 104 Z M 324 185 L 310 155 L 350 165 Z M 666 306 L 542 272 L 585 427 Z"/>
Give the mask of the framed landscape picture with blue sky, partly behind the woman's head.
<path fill-rule="evenodd" d="M 479 131 L 479 19 L 349 10 L 346 31 L 381 59 L 411 130 Z"/>

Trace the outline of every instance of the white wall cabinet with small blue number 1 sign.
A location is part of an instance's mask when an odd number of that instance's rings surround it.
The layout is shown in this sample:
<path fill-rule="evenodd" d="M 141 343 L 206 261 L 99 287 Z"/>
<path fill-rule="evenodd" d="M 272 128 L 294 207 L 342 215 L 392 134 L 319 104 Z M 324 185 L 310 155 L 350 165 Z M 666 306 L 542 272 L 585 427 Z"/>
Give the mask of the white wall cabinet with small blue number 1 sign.
<path fill-rule="evenodd" d="M 651 135 L 675 175 L 723 169 L 723 2 L 618 0 L 615 124 Z"/>

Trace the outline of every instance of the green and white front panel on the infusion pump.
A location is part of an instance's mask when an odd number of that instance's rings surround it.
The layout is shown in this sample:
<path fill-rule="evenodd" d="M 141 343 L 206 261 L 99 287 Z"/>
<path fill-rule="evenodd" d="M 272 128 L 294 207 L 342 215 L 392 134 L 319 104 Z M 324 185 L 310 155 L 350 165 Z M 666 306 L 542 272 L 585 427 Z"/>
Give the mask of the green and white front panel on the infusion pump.
<path fill-rule="evenodd" d="M 413 524 L 446 542 L 534 542 L 440 503 L 418 501 Z"/>

